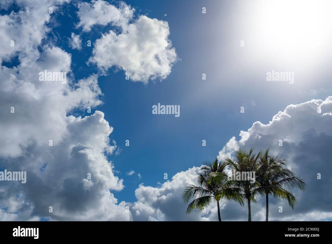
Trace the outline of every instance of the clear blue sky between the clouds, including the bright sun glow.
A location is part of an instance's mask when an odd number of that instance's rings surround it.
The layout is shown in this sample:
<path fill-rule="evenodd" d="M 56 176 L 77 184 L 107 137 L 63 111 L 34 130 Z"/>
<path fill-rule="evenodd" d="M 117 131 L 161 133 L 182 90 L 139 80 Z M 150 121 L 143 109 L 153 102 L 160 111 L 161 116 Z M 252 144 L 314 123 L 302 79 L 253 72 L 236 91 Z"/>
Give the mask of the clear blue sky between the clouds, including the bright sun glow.
<path fill-rule="evenodd" d="M 119 7 L 118 1 L 109 2 Z M 110 30 L 121 33 L 121 29 L 111 24 L 93 25 L 90 31 L 77 28 L 80 21 L 77 15 L 78 3 L 63 3 L 59 8 L 61 11 L 54 11 L 44 24 L 49 31 L 36 44 L 41 54 L 50 46 L 71 54 L 70 69 L 74 82 L 101 73 L 96 63 L 87 64 L 93 55 L 94 44 Z M 272 146 L 279 150 L 277 144 L 256 143 L 254 139 L 251 141 L 251 137 L 242 143 L 240 131 L 247 131 L 257 121 L 269 124 L 274 115 L 291 104 L 301 104 L 312 99 L 324 101 L 331 95 L 329 81 L 332 74 L 328 65 L 331 61 L 328 54 L 331 49 L 330 34 L 324 33 L 326 26 L 317 30 L 310 26 L 301 28 L 301 22 L 298 24 L 297 20 L 304 21 L 305 16 L 296 11 L 301 10 L 301 6 L 297 8 L 297 5 L 288 5 L 283 1 L 281 7 L 274 6 L 275 3 L 271 1 L 265 4 L 257 1 L 252 5 L 246 1 L 125 3 L 135 9 L 131 23 L 135 23 L 140 15 L 168 23 L 168 39 L 176 50 L 178 60 L 165 79 L 150 79 L 147 84 L 126 80 L 125 71 L 121 67 L 112 66 L 98 77 L 98 86 L 102 92 L 98 99 L 103 102 L 102 105 L 92 107 L 91 114 L 87 113 L 84 106 L 71 106 L 66 111 L 67 117 L 91 116 L 96 110 L 102 111 L 104 119 L 114 128 L 110 139 L 116 141 L 117 150 L 121 153 L 105 155 L 115 167 L 114 174 L 124 180 L 125 187 L 122 190 L 117 191 L 117 187 L 111 189 L 118 203 L 139 202 L 135 190 L 141 183 L 152 188 L 162 188 L 161 184 L 167 182 L 164 173 L 171 180 L 178 172 L 187 172 L 194 166 L 200 167 L 205 160 L 223 155 L 219 151 L 233 136 L 236 143 L 244 147 L 252 145 L 260 150 Z M 24 1 L 19 1 L 19 4 L 3 8 L 0 13 L 9 15 L 12 10 L 17 12 L 24 4 Z M 55 1 L 53 4 L 58 3 Z M 309 11 L 308 5 L 303 6 L 307 6 L 303 11 Z M 206 14 L 202 13 L 202 7 L 206 7 Z M 278 10 L 284 8 L 288 9 L 286 12 L 295 11 L 297 15 L 293 15 L 297 17 L 283 16 L 283 20 L 276 22 L 275 17 L 269 19 L 269 15 L 278 16 L 279 13 L 282 16 Z M 319 5 L 315 10 L 318 16 L 323 16 L 318 20 L 316 18 L 316 21 L 321 21 L 319 24 L 323 25 L 324 16 L 327 16 L 324 6 Z M 268 23 L 268 27 L 264 23 Z M 294 26 L 298 29 L 294 29 Z M 71 33 L 80 35 L 82 49 L 70 46 Z M 312 35 L 316 39 L 311 38 Z M 91 40 L 91 47 L 86 45 L 88 40 Z M 244 46 L 240 45 L 242 40 Z M 4 55 L 2 66 L 18 66 L 23 60 L 21 53 L 23 51 Z M 267 82 L 266 73 L 272 70 L 294 72 L 294 84 Z M 207 76 L 206 80 L 202 80 L 203 73 Z M 180 105 L 180 117 L 153 115 L 152 106 L 158 103 Z M 245 110 L 243 114 L 240 113 L 241 107 Z M 299 143 L 298 134 L 311 127 L 312 124 L 303 126 L 303 131 L 294 132 L 294 143 Z M 322 128 L 320 132 L 329 135 L 330 130 Z M 94 135 L 95 132 L 91 128 L 91 132 L 87 133 Z M 261 135 L 265 132 L 257 133 Z M 125 146 L 125 140 L 130 141 L 130 146 Z M 202 146 L 202 140 L 206 140 L 206 146 Z M 283 152 L 291 158 L 288 151 Z M 6 165 L 8 159 L 2 160 L 5 160 L 3 164 Z M 0 168 L 4 167 L 0 165 Z M 126 175 L 131 170 L 135 174 Z M 164 214 L 167 216 L 166 212 Z M 47 216 L 39 216 L 47 219 Z M 153 218 L 158 219 L 156 216 Z"/>

